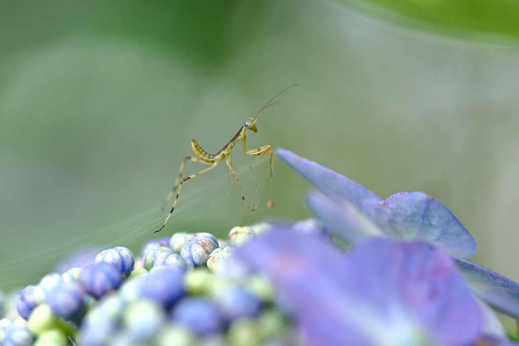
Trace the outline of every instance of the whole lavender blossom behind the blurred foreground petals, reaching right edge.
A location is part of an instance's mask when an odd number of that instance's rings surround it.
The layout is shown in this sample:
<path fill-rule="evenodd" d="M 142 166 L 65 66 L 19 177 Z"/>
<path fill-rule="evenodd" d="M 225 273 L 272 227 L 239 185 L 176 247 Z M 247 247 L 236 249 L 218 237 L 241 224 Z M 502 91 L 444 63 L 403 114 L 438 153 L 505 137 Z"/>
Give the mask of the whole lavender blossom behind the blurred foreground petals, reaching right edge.
<path fill-rule="evenodd" d="M 369 237 L 420 239 L 466 258 L 476 251 L 469 232 L 440 201 L 422 192 L 398 192 L 386 200 L 316 162 L 289 150 L 278 154 L 321 193 L 310 192 L 305 203 L 310 212 L 347 243 Z M 519 319 L 519 284 L 454 257 L 472 292 L 488 305 Z"/>

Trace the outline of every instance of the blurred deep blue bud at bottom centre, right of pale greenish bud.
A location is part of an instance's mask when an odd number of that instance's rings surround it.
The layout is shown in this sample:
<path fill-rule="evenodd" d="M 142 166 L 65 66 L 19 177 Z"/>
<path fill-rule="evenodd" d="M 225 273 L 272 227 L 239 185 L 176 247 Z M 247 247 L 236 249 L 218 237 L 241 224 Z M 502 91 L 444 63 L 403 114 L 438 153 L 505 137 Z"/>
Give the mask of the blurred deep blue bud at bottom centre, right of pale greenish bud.
<path fill-rule="evenodd" d="M 222 328 L 216 306 L 202 297 L 182 299 L 173 309 L 171 318 L 202 337 L 215 334 Z"/>

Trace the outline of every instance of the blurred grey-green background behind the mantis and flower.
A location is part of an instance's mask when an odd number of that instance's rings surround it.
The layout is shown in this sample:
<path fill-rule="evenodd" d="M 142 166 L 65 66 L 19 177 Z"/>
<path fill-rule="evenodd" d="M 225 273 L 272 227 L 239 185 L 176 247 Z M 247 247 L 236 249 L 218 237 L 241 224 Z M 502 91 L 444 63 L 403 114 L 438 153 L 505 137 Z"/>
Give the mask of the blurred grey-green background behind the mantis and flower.
<path fill-rule="evenodd" d="M 250 148 L 290 149 L 382 198 L 424 191 L 476 239 L 471 260 L 519 281 L 518 8 L 0 1 L 0 287 L 35 284 L 74 248 L 136 250 L 189 140 L 220 150 L 294 83 Z M 301 178 L 276 159 L 270 181 L 235 150 L 258 210 L 222 165 L 186 183 L 162 235 L 307 217 Z"/>

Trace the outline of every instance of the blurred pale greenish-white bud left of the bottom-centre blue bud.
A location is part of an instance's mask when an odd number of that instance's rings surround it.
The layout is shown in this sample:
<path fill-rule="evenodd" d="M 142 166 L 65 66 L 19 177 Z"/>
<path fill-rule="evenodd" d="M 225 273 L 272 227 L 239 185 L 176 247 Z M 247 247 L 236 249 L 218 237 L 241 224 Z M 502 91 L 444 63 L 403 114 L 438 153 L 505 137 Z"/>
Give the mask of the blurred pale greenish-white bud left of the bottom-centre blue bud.
<path fill-rule="evenodd" d="M 166 313 L 154 300 L 133 302 L 122 317 L 124 333 L 132 343 L 149 342 L 166 321 Z"/>

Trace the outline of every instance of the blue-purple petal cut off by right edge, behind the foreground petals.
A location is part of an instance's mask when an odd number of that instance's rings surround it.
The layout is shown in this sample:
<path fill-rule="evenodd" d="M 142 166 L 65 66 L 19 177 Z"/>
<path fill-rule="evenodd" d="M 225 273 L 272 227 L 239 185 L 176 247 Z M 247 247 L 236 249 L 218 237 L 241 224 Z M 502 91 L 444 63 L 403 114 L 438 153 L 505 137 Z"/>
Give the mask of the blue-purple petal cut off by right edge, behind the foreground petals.
<path fill-rule="evenodd" d="M 494 309 L 519 319 L 519 284 L 472 262 L 453 258 L 472 292 Z"/>

